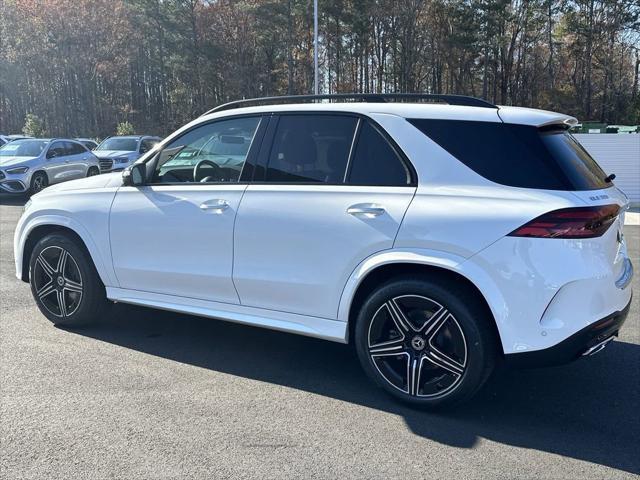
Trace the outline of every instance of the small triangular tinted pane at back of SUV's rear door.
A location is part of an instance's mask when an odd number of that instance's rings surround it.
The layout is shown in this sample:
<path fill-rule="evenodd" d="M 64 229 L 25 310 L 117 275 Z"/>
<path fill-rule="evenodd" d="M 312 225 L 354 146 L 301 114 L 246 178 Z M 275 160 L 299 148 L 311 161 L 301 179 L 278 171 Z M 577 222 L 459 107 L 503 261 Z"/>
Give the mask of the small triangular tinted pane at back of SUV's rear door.
<path fill-rule="evenodd" d="M 369 122 L 362 124 L 348 182 L 351 185 L 404 186 L 411 173 L 389 142 Z"/>

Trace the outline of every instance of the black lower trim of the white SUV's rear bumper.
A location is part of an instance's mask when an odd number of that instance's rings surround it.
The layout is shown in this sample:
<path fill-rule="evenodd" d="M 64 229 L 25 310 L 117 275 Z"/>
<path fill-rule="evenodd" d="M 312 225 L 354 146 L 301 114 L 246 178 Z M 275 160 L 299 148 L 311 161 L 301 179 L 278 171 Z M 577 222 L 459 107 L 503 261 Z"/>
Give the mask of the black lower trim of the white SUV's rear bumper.
<path fill-rule="evenodd" d="M 618 336 L 630 307 L 631 300 L 621 311 L 592 323 L 553 347 L 533 352 L 507 354 L 505 360 L 514 367 L 536 368 L 562 365 L 577 360 L 581 356 L 593 355 Z"/>

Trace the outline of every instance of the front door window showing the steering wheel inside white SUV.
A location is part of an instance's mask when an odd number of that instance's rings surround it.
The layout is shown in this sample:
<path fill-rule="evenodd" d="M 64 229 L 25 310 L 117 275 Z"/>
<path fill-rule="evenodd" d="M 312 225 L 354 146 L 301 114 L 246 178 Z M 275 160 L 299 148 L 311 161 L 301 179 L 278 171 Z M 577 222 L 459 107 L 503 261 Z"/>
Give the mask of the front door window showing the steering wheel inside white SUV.
<path fill-rule="evenodd" d="M 153 183 L 230 183 L 240 179 L 260 117 L 207 123 L 165 146 Z M 163 158 L 164 157 L 164 158 Z"/>

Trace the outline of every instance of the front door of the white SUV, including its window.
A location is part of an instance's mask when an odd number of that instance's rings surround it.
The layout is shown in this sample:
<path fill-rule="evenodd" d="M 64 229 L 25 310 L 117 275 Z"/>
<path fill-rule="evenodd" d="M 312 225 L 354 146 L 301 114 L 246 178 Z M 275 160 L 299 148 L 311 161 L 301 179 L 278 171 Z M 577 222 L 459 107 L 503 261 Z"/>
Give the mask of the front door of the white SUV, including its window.
<path fill-rule="evenodd" d="M 118 190 L 110 240 L 121 288 L 238 303 L 233 225 L 260 122 L 241 117 L 188 130 L 158 153 L 147 185 Z"/>

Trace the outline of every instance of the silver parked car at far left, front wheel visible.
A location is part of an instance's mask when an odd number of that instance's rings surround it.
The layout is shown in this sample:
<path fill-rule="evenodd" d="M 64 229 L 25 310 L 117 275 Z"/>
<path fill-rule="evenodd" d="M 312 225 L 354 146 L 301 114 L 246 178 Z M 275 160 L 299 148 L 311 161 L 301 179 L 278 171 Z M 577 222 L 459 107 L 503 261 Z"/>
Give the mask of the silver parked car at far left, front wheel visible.
<path fill-rule="evenodd" d="M 75 140 L 14 140 L 0 148 L 0 191 L 38 193 L 54 183 L 99 174 L 98 162 Z"/>

